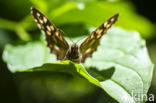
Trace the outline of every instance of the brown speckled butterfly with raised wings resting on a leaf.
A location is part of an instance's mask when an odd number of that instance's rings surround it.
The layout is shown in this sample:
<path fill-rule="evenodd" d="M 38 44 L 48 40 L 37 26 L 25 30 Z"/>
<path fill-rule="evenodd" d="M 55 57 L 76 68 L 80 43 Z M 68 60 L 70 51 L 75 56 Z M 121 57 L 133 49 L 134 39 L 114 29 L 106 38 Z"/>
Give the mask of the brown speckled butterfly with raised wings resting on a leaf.
<path fill-rule="evenodd" d="M 38 9 L 32 7 L 31 12 L 38 27 L 45 33 L 47 46 L 50 48 L 51 53 L 56 55 L 57 60 L 70 60 L 75 63 L 84 63 L 87 57 L 92 56 L 93 52 L 97 50 L 100 38 L 106 34 L 119 17 L 119 13 L 110 17 L 96 30 L 91 32 L 91 35 L 78 46 L 76 43 L 69 45 L 61 36 L 60 30 Z"/>

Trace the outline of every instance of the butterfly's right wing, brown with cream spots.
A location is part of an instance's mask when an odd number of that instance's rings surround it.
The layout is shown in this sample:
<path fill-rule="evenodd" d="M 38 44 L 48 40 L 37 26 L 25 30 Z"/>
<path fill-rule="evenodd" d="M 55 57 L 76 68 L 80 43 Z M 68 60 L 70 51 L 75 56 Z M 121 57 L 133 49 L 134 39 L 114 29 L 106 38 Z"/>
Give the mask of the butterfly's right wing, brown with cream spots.
<path fill-rule="evenodd" d="M 107 30 L 116 22 L 119 14 L 116 14 L 105 21 L 99 28 L 91 33 L 91 35 L 80 45 L 80 52 L 82 54 L 81 62 L 84 62 L 87 57 L 92 56 L 96 51 L 100 38 L 107 32 Z"/>

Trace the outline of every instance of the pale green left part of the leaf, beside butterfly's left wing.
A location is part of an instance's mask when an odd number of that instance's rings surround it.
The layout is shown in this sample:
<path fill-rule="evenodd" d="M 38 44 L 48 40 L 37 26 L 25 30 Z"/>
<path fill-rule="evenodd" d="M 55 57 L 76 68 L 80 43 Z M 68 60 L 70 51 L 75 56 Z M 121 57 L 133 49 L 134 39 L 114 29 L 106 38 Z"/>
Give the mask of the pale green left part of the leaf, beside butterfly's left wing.
<path fill-rule="evenodd" d="M 7 62 L 11 72 L 20 72 L 46 62 L 55 62 L 56 58 L 49 54 L 43 42 L 32 42 L 19 46 L 7 45 L 3 52 L 3 60 Z"/>

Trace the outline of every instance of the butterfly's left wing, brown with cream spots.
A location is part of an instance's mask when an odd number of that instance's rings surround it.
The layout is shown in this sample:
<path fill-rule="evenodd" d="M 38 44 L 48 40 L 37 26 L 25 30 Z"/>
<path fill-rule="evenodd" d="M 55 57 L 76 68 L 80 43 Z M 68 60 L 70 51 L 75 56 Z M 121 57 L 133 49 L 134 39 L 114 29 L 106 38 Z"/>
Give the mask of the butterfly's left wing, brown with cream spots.
<path fill-rule="evenodd" d="M 63 60 L 69 49 L 68 43 L 46 16 L 36 8 L 31 8 L 31 11 L 37 25 L 46 34 L 47 46 L 56 54 L 58 60 Z"/>

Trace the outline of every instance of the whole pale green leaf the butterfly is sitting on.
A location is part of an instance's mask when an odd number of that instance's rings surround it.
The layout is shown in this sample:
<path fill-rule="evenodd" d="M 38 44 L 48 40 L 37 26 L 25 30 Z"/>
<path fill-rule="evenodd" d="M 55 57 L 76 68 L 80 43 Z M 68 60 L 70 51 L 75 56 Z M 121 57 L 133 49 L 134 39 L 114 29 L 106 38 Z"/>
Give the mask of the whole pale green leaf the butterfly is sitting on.
<path fill-rule="evenodd" d="M 103 36 L 97 51 L 83 65 L 56 62 L 56 57 L 39 41 L 6 46 L 3 60 L 11 72 L 48 71 L 80 75 L 120 103 L 142 103 L 143 100 L 135 100 L 140 93 L 147 94 L 153 72 L 145 41 L 137 32 L 120 28 L 112 28 Z"/>

